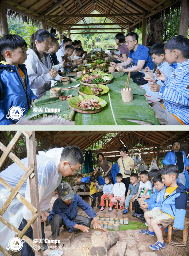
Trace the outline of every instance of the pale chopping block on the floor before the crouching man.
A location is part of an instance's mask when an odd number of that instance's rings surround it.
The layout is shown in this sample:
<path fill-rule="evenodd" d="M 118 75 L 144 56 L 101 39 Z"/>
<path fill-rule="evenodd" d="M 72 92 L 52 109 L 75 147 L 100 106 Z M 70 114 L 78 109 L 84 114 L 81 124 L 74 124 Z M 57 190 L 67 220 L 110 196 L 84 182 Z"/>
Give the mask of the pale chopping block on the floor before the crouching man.
<path fill-rule="evenodd" d="M 106 232 L 100 232 L 99 235 L 94 232 L 91 236 L 89 253 L 91 256 L 107 256 L 108 249 L 118 240 L 118 232 L 106 230 Z"/>

